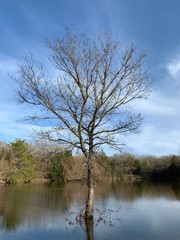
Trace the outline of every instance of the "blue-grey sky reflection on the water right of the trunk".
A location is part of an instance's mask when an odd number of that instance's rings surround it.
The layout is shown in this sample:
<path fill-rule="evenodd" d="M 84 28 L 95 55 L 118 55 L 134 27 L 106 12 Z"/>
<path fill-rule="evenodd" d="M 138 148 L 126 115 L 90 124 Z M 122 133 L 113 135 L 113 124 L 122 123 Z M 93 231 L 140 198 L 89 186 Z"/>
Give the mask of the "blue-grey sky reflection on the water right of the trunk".
<path fill-rule="evenodd" d="M 115 208 L 119 202 L 109 202 Z M 180 202 L 165 199 L 139 199 L 132 204 L 122 203 L 113 227 L 99 225 L 95 229 L 96 239 L 179 239 Z"/>

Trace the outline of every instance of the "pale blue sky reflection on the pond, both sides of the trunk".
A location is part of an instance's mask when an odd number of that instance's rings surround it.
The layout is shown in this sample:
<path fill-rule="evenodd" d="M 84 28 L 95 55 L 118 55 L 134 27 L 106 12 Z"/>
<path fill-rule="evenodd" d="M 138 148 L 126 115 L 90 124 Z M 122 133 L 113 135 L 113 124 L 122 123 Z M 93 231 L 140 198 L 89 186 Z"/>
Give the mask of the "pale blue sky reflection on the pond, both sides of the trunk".
<path fill-rule="evenodd" d="M 26 206 L 21 216 L 23 220 L 16 229 L 8 232 L 1 224 L 0 239 L 86 239 L 85 226 L 75 221 L 82 204 L 83 200 L 80 201 L 76 195 L 70 201 L 67 212 L 60 207 L 52 207 L 52 204 L 43 203 L 39 208 Z M 180 202 L 177 199 L 149 197 L 146 194 L 125 199 L 121 194 L 115 197 L 110 192 L 106 197 L 97 196 L 95 208 L 103 215 L 101 221 L 99 214 L 95 216 L 94 239 L 180 239 Z M 2 223 L 1 220 L 2 217 Z"/>

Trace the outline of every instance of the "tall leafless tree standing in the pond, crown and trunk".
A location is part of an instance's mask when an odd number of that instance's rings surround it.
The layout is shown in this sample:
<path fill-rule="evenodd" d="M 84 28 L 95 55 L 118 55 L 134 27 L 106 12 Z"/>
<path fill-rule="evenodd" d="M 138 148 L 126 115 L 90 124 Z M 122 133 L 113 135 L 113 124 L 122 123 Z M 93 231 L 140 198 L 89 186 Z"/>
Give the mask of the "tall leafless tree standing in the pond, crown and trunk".
<path fill-rule="evenodd" d="M 120 148 L 119 136 L 135 132 L 142 120 L 131 103 L 151 90 L 143 70 L 145 54 L 136 47 L 122 49 L 110 35 L 95 40 L 67 30 L 63 38 L 48 41 L 50 77 L 32 57 L 20 66 L 18 100 L 36 107 L 26 120 L 45 121 L 43 137 L 80 149 L 86 158 L 88 198 L 85 219 L 93 218 L 93 159 L 102 145 Z"/>

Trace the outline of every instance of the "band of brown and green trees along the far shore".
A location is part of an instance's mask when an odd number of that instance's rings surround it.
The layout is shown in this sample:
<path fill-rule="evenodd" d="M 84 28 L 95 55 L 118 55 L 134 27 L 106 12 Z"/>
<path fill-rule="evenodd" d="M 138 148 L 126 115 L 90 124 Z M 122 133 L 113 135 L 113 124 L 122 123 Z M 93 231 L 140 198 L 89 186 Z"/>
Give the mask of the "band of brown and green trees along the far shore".
<path fill-rule="evenodd" d="M 142 180 L 180 182 L 180 156 L 134 156 L 116 154 L 108 157 L 104 151 L 96 156 L 94 178 L 112 180 Z M 86 181 L 86 166 L 82 155 L 55 143 L 35 144 L 16 139 L 0 143 L 0 184 L 49 183 Z"/>

